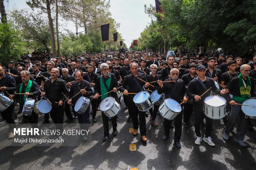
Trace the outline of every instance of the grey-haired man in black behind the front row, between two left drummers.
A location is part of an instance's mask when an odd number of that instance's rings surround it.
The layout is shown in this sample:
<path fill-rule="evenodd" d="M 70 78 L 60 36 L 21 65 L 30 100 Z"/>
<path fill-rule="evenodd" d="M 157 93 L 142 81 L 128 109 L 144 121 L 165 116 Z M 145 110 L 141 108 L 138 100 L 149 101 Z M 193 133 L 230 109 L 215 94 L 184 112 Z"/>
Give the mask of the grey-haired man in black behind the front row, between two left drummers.
<path fill-rule="evenodd" d="M 68 86 L 68 88 L 70 89 L 72 83 L 76 81 L 76 78 L 72 75 L 69 75 L 69 70 L 67 68 L 62 68 L 62 80 L 65 81 L 66 85 Z M 73 120 L 73 116 L 70 112 L 70 105 L 67 104 L 67 102 L 65 101 L 65 114 L 66 114 L 66 122 L 71 122 Z M 75 112 L 74 112 L 75 114 Z M 76 115 L 75 115 L 76 116 Z"/>

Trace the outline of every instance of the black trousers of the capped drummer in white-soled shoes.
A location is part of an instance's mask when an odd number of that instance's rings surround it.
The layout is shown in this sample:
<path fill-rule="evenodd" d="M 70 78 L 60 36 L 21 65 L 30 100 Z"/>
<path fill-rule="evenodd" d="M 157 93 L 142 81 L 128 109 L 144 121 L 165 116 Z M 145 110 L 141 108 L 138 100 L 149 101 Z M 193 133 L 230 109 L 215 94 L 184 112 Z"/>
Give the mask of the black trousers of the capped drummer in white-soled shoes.
<path fill-rule="evenodd" d="M 205 137 L 211 136 L 211 128 L 213 125 L 213 120 L 206 117 L 203 111 L 203 105 L 193 105 L 194 106 L 194 130 L 198 137 L 201 137 L 200 132 L 200 123 L 204 119 L 206 119 L 206 128 L 205 128 Z"/>

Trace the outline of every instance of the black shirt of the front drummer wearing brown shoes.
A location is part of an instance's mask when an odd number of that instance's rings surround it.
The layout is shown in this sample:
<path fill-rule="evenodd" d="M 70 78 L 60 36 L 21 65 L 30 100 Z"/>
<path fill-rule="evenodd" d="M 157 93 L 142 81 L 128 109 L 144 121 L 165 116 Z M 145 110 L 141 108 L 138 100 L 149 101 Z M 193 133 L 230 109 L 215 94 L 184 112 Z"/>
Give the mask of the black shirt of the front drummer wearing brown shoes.
<path fill-rule="evenodd" d="M 138 72 L 137 77 L 147 82 L 145 74 Z M 137 77 L 134 77 L 133 74 L 126 76 L 123 79 L 123 87 L 121 88 L 121 91 L 125 91 L 126 89 L 129 93 L 139 93 L 140 91 L 142 91 L 142 89 L 145 88 L 145 83 L 137 79 Z"/>

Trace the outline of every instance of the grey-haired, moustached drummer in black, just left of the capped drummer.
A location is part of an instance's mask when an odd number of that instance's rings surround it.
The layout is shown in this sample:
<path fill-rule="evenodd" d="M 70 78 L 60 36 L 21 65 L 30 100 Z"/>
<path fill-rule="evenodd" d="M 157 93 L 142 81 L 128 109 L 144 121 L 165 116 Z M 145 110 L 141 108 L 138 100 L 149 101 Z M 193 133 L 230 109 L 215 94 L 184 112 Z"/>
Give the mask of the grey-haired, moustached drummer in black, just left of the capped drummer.
<path fill-rule="evenodd" d="M 178 79 L 179 77 L 179 70 L 177 68 L 173 68 L 170 71 L 171 78 L 166 79 L 164 83 L 162 81 L 158 82 L 160 88 L 157 90 L 158 94 L 164 93 L 166 98 L 172 98 L 173 100 L 176 100 L 178 103 L 181 103 L 182 101 L 187 103 L 187 97 L 186 94 L 186 87 L 185 83 L 182 79 Z M 168 81 L 175 81 L 175 82 L 168 82 Z M 175 147 L 181 148 L 180 145 L 180 137 L 182 132 L 182 113 L 178 114 L 178 116 L 175 117 L 174 120 L 174 127 L 175 127 L 175 133 L 174 133 L 174 143 L 173 145 Z M 164 136 L 162 137 L 162 140 L 166 140 L 169 137 L 171 128 L 171 121 L 164 119 Z"/>

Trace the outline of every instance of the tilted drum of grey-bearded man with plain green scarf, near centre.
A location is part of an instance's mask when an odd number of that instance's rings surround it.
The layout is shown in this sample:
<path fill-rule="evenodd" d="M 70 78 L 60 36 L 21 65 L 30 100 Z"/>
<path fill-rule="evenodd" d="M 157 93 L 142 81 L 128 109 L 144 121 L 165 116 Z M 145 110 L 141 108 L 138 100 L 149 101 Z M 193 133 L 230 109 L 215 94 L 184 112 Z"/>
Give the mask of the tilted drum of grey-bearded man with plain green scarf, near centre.
<path fill-rule="evenodd" d="M 112 97 L 107 97 L 100 102 L 100 111 L 108 117 L 116 116 L 121 110 L 121 107 L 118 102 Z"/>

